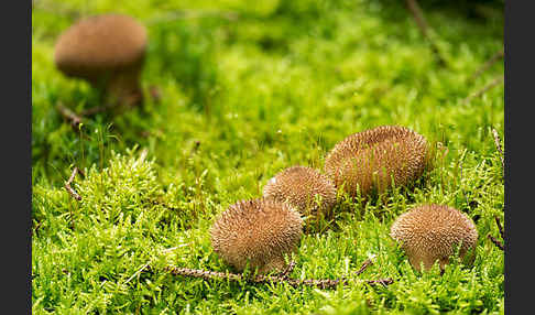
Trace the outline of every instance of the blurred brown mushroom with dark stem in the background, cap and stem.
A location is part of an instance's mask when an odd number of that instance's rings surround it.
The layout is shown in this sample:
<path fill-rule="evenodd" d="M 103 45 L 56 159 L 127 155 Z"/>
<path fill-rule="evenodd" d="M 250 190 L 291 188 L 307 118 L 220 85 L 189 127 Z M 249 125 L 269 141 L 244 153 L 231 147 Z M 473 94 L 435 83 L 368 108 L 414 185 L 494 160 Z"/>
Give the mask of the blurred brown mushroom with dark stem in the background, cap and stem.
<path fill-rule="evenodd" d="M 66 76 L 103 88 L 108 101 L 133 105 L 142 99 L 139 76 L 146 50 L 146 29 L 122 14 L 78 21 L 55 45 L 54 62 Z"/>

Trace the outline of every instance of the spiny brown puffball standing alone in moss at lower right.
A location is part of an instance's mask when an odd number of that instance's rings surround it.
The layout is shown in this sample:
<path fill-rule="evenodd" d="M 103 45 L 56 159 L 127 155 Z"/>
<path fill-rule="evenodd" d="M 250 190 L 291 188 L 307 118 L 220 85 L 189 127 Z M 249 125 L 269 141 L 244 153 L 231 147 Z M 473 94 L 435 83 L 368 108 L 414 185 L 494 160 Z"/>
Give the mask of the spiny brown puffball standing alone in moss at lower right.
<path fill-rule="evenodd" d="M 397 217 L 390 236 L 401 243 L 416 270 L 421 271 L 422 262 L 429 270 L 436 261 L 444 270 L 456 247 L 460 246 L 460 258 L 476 247 L 478 230 L 466 214 L 455 208 L 422 205 Z"/>

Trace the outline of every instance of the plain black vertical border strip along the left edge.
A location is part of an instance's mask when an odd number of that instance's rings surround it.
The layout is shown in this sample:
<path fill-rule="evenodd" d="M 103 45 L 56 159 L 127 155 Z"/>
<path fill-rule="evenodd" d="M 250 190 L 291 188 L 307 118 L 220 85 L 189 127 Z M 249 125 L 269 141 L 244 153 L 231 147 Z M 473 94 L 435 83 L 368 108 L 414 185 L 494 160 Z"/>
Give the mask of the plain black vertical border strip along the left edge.
<path fill-rule="evenodd" d="M 2 264 L 13 314 L 31 314 L 32 211 L 32 1 L 4 2 L 2 37 Z M 11 311 L 14 308 L 15 311 Z"/>

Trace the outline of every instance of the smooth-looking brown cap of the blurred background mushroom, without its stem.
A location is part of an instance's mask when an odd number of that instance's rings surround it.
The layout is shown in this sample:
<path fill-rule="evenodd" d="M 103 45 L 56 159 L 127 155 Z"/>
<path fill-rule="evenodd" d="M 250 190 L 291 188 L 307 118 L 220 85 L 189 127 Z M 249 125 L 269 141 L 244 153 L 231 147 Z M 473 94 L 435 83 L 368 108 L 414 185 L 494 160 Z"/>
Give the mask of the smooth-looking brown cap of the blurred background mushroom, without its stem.
<path fill-rule="evenodd" d="M 102 14 L 84 19 L 56 42 L 54 59 L 68 76 L 91 83 L 110 72 L 139 67 L 146 47 L 146 30 L 134 19 Z"/>

